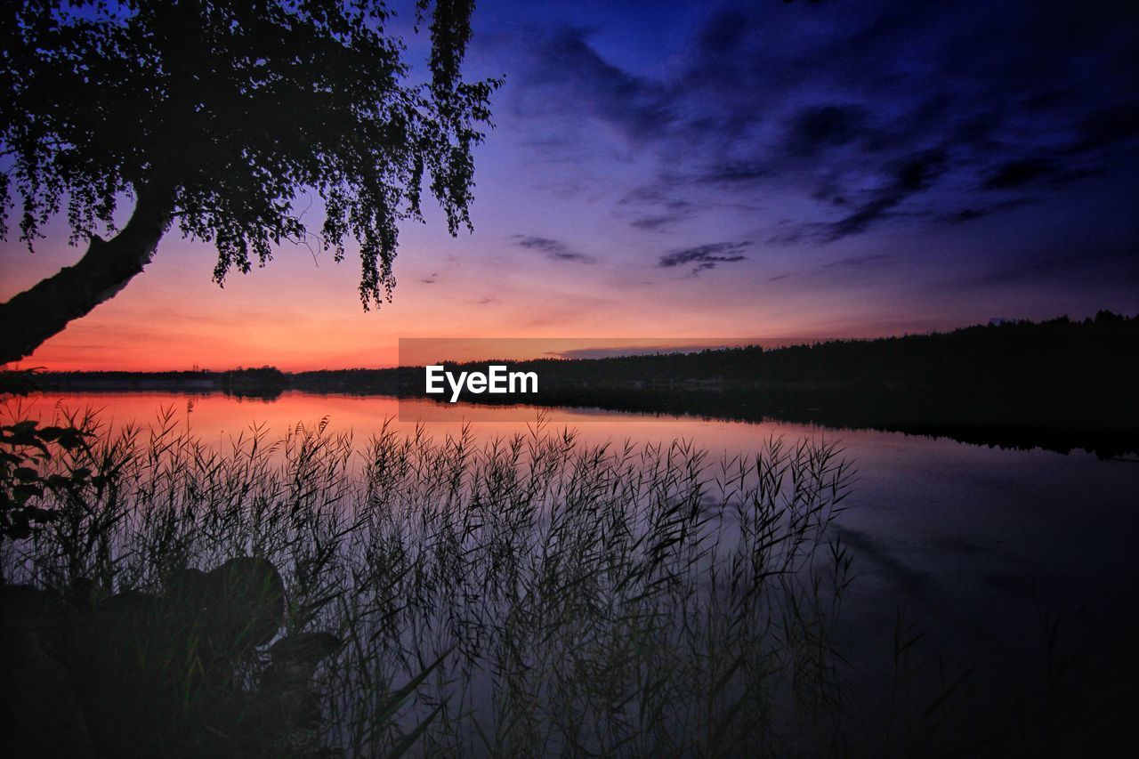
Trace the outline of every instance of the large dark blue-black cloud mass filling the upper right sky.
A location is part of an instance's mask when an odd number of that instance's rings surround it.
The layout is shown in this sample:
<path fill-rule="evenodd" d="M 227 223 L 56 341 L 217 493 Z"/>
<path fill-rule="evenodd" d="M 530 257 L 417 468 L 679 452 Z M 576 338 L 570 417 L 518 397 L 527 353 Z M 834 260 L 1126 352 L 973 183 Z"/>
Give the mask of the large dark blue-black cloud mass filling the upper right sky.
<path fill-rule="evenodd" d="M 1134 21 L 1112 2 L 739 3 L 656 77 L 584 30 L 536 35 L 523 89 L 558 123 L 597 120 L 656 158 L 657 199 L 634 228 L 778 193 L 802 203 L 772 239 L 825 244 L 903 217 L 941 223 L 947 206 L 962 209 L 953 221 L 999 214 L 1013 206 L 977 196 L 1043 201 L 1132 164 Z M 678 198 L 682 214 L 665 206 Z"/>

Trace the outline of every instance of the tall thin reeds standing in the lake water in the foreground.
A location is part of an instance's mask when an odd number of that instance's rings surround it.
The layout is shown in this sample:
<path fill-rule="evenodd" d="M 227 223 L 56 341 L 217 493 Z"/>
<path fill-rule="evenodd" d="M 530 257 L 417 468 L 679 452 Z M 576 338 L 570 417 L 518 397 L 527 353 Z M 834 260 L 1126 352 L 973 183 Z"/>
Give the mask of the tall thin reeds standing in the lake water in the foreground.
<path fill-rule="evenodd" d="M 833 645 L 852 470 L 771 439 L 711 460 L 682 441 L 435 438 L 326 422 L 224 450 L 164 414 L 46 463 L 90 470 L 59 519 L 6 542 L 9 581 L 110 597 L 185 568 L 271 561 L 282 635 L 343 640 L 303 745 L 377 756 L 786 756 L 836 748 Z M 268 655 L 248 663 L 254 688 Z M 302 745 L 301 743 L 294 745 Z"/>

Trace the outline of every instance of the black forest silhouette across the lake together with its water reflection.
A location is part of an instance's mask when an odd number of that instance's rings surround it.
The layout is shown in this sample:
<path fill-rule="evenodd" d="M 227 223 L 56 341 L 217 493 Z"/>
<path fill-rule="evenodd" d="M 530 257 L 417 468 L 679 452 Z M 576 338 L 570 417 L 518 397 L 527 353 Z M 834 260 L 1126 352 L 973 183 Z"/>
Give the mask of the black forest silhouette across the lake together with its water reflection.
<path fill-rule="evenodd" d="M 1131 383 L 1139 317 L 1100 311 L 878 340 L 835 340 L 608 358 L 511 361 L 536 372 L 526 406 L 588 407 L 740 422 L 776 418 L 830 427 L 945 435 L 991 446 L 1101 457 L 1139 452 Z M 450 370 L 489 361 L 446 362 Z M 287 390 L 423 398 L 421 367 L 284 373 L 68 372 L 40 375 L 55 390 L 224 392 L 271 400 Z M 482 405 L 516 397 L 472 395 Z"/>

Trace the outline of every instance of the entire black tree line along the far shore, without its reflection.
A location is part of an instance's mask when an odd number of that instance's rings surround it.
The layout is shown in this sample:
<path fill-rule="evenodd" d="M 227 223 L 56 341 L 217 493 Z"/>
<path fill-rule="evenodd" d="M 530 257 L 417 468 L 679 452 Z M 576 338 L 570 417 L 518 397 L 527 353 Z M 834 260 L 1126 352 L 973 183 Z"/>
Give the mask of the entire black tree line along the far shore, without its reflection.
<path fill-rule="evenodd" d="M 489 361 L 448 364 L 451 369 Z M 1059 317 L 877 340 L 831 340 L 591 359 L 503 361 L 535 370 L 542 386 L 723 384 L 797 385 L 1088 385 L 1130 384 L 1139 374 L 1139 316 L 1100 311 L 1095 319 Z M 49 386 L 105 383 L 199 384 L 219 389 L 293 387 L 316 392 L 396 392 L 421 385 L 418 367 L 287 374 L 276 367 L 228 372 L 65 372 L 41 375 Z"/>

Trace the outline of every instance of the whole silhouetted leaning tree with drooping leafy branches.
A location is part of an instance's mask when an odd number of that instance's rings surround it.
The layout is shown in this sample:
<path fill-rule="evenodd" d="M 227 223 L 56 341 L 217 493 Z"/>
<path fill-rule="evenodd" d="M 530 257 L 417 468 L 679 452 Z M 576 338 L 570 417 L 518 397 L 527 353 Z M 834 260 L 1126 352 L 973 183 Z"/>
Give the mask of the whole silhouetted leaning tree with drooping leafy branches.
<path fill-rule="evenodd" d="M 376 0 L 0 5 L 0 235 L 18 196 L 30 250 L 60 210 L 88 244 L 0 304 L 0 364 L 113 297 L 174 225 L 214 243 L 221 285 L 304 238 L 294 198 L 314 191 L 323 250 L 341 261 L 359 243 L 364 310 L 391 300 L 398 222 L 423 220 L 425 183 L 452 236 L 470 228 L 472 148 L 501 83 L 461 77 L 474 0 L 417 0 L 418 83 Z"/>

